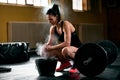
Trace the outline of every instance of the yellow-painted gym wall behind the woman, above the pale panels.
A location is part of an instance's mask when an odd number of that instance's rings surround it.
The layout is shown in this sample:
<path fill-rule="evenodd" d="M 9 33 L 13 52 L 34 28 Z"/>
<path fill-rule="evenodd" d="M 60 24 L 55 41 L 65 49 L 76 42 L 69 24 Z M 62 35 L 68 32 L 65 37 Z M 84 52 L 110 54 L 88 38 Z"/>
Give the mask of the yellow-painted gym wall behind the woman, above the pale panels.
<path fill-rule="evenodd" d="M 95 7 L 95 8 L 93 7 L 91 11 L 74 12 L 72 10 L 72 0 L 52 0 L 52 1 L 53 1 L 52 3 L 57 3 L 61 6 L 62 18 L 64 20 L 69 20 L 71 23 L 78 25 L 80 23 L 103 24 L 104 31 L 102 31 L 103 32 L 102 37 L 104 38 L 107 37 L 107 32 L 106 32 L 107 20 L 104 9 L 100 12 L 99 7 Z M 95 3 L 98 2 L 94 2 L 94 4 Z M 35 8 L 31 6 L 23 7 L 23 6 L 0 4 L 0 32 L 1 32 L 0 42 L 9 41 L 9 35 L 7 31 L 8 22 L 11 21 L 47 22 L 46 16 L 45 14 L 43 14 L 43 9 L 44 9 L 43 7 Z M 94 31 L 96 32 L 96 29 L 94 29 Z"/>

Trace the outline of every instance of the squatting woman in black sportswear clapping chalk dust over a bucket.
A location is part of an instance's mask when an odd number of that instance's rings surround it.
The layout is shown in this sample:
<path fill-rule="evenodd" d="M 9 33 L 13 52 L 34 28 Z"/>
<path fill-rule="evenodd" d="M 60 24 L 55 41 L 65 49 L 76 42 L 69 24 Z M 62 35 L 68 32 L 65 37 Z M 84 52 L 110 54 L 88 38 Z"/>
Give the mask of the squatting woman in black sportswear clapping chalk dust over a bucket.
<path fill-rule="evenodd" d="M 61 65 L 56 71 L 62 71 L 71 66 L 69 59 L 74 59 L 75 52 L 78 50 L 81 42 L 75 32 L 74 26 L 69 21 L 61 20 L 58 5 L 54 4 L 46 14 L 51 27 L 49 40 L 44 49 L 48 53 L 47 56 L 58 58 Z M 55 44 L 55 37 L 58 44 Z"/>

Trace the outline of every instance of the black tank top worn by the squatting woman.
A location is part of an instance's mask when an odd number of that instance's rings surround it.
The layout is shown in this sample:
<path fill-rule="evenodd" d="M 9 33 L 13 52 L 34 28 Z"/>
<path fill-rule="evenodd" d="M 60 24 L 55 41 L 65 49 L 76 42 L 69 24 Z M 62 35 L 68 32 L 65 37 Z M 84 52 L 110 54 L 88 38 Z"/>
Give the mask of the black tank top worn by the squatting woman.
<path fill-rule="evenodd" d="M 61 22 L 61 26 L 63 26 L 63 21 Z M 58 32 L 57 32 L 57 29 L 55 27 L 55 35 L 57 36 L 58 38 L 58 41 L 60 42 L 64 42 L 64 32 L 62 31 L 62 34 L 59 35 Z M 75 46 L 75 47 L 80 47 L 81 46 L 81 41 L 76 33 L 76 31 L 72 32 L 71 33 L 71 46 Z"/>

